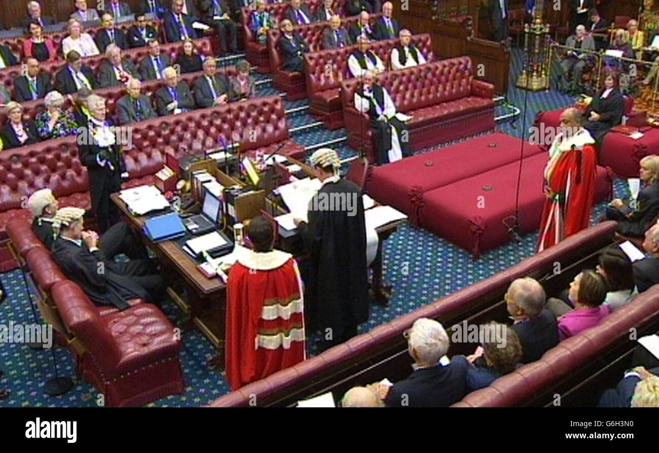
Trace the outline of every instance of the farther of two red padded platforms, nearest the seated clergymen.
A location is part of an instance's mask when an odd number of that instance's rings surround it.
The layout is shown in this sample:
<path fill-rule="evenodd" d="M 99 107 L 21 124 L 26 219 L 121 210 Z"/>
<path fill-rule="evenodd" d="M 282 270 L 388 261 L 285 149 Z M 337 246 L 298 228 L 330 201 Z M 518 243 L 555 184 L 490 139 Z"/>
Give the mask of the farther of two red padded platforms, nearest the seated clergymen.
<path fill-rule="evenodd" d="M 424 204 L 424 193 L 515 162 L 519 159 L 520 146 L 521 140 L 501 133 L 467 140 L 373 168 L 366 191 L 382 204 L 405 212 L 412 224 L 416 224 Z M 540 147 L 525 142 L 525 156 L 539 152 Z"/>

